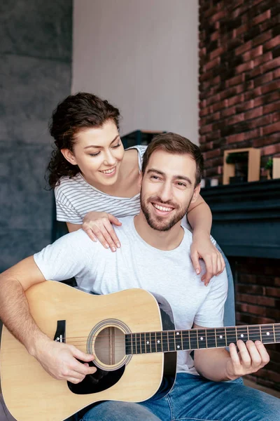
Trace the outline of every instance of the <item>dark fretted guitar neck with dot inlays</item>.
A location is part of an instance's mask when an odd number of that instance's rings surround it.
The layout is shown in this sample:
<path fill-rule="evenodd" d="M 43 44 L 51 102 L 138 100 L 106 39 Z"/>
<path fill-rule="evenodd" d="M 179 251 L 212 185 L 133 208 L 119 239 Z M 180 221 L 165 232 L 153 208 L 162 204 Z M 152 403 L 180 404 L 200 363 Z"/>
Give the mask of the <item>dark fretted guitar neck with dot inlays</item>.
<path fill-rule="evenodd" d="M 280 323 L 225 328 L 162 330 L 160 332 L 127 333 L 126 354 L 150 354 L 183 349 L 225 348 L 238 340 L 260 340 L 264 344 L 280 342 Z"/>

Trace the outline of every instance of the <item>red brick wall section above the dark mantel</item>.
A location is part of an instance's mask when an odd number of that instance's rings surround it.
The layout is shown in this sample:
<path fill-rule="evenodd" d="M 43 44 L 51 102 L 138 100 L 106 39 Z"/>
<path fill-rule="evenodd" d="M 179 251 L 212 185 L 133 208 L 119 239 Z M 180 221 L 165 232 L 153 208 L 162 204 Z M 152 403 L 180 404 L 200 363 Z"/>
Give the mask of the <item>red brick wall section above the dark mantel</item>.
<path fill-rule="evenodd" d="M 280 4 L 200 0 L 200 146 L 205 178 L 223 180 L 223 151 L 280 154 Z"/>

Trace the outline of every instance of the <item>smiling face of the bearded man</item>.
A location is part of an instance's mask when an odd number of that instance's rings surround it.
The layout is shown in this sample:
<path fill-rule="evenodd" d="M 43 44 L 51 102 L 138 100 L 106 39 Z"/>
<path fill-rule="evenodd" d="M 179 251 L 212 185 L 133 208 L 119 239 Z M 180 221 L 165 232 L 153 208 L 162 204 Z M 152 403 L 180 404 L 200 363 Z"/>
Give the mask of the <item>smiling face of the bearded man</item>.
<path fill-rule="evenodd" d="M 186 215 L 197 199 L 195 160 L 189 154 L 170 154 L 158 149 L 151 155 L 141 182 L 141 210 L 148 225 L 168 231 Z"/>

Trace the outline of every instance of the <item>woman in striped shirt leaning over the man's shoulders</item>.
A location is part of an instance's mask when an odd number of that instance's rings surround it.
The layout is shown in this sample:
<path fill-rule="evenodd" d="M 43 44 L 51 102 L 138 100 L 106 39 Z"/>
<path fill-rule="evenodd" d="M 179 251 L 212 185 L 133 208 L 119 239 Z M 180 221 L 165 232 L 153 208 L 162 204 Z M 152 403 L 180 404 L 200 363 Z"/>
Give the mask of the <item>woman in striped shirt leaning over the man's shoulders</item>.
<path fill-rule="evenodd" d="M 112 224 L 140 210 L 139 171 L 145 146 L 124 150 L 119 135 L 120 112 L 108 101 L 90 93 L 70 95 L 52 114 L 50 134 L 56 148 L 48 170 L 55 189 L 57 220 L 69 232 L 83 226 L 93 241 L 106 248 L 120 247 Z M 193 229 L 192 260 L 200 273 L 203 258 L 207 285 L 223 272 L 225 262 L 210 240 L 211 210 L 200 196 L 188 209 Z M 185 222 L 187 224 L 187 221 Z"/>

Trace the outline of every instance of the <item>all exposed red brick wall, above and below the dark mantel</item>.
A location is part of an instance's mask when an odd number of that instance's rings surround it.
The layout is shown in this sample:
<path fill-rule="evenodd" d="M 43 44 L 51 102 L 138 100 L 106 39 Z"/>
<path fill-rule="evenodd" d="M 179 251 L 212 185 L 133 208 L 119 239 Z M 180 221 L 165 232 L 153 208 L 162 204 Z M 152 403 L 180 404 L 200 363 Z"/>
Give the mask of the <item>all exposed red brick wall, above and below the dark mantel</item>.
<path fill-rule="evenodd" d="M 225 149 L 280 156 L 280 4 L 275 0 L 200 0 L 200 147 L 205 178 L 223 182 Z M 279 260 L 231 258 L 237 323 L 280 321 Z M 280 346 L 250 380 L 280 389 Z"/>

